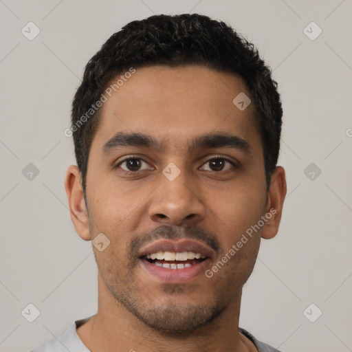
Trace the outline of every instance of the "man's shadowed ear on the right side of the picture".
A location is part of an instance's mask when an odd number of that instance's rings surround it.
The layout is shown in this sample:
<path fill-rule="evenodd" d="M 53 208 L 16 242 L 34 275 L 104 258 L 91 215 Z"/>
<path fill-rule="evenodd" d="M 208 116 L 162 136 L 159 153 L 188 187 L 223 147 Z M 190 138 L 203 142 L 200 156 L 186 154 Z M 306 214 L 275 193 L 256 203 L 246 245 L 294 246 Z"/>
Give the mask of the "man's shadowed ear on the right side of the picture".
<path fill-rule="evenodd" d="M 267 206 L 265 211 L 265 224 L 261 236 L 263 239 L 272 239 L 278 233 L 281 215 L 283 214 L 283 201 L 287 191 L 285 169 L 277 166 L 270 181 Z"/>

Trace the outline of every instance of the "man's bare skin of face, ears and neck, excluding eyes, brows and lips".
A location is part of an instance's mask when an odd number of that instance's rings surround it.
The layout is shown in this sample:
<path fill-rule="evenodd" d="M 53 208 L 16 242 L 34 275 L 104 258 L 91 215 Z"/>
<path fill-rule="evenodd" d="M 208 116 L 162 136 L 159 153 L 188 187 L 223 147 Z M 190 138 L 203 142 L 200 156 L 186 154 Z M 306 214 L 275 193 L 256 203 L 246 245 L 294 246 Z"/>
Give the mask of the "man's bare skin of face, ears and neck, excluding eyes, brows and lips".
<path fill-rule="evenodd" d="M 103 104 L 89 152 L 88 211 L 78 167 L 69 166 L 65 179 L 76 232 L 85 241 L 102 232 L 110 241 L 102 252 L 93 246 L 98 313 L 77 329 L 91 351 L 256 351 L 239 333 L 242 287 L 261 238 L 278 232 L 286 181 L 285 170 L 276 167 L 267 192 L 254 104 L 240 111 L 232 103 L 240 92 L 250 96 L 232 74 L 197 65 L 153 66 L 136 69 Z M 118 131 L 153 135 L 166 148 L 125 146 L 104 154 L 102 146 Z M 215 132 L 243 138 L 250 152 L 221 147 L 188 153 L 193 137 Z M 127 155 L 142 158 L 140 173 L 126 175 L 129 166 L 135 170 L 127 163 L 114 168 Z M 226 162 L 223 170 L 212 168 L 217 155 L 239 167 Z M 170 162 L 181 171 L 173 181 L 162 173 Z M 218 244 L 209 269 L 271 208 L 276 214 L 212 278 L 202 272 L 187 283 L 161 283 L 136 257 L 143 246 L 167 238 L 163 230 L 174 240 L 201 242 L 198 230 L 206 236 L 202 243 Z"/>

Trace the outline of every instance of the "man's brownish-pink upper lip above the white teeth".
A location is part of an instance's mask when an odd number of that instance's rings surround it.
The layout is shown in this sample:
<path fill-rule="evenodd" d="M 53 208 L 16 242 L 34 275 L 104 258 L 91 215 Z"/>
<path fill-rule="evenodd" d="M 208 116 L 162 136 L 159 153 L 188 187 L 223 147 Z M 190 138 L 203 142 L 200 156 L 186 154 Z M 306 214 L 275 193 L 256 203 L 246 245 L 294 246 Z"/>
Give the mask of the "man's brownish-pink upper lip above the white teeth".
<path fill-rule="evenodd" d="M 208 246 L 190 239 L 182 239 L 177 242 L 169 240 L 159 240 L 140 250 L 139 256 L 146 256 L 156 252 L 195 252 L 203 256 L 210 257 L 212 250 Z"/>

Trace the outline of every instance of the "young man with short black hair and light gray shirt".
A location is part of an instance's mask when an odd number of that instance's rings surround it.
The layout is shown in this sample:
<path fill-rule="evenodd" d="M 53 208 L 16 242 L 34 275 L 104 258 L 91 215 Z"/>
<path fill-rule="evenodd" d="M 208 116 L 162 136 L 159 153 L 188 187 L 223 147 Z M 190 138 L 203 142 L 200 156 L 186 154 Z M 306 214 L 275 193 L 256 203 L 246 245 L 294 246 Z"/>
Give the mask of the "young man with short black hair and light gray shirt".
<path fill-rule="evenodd" d="M 65 188 L 98 312 L 39 351 L 277 351 L 239 328 L 286 194 L 282 108 L 254 45 L 199 14 L 133 21 L 85 68 Z"/>

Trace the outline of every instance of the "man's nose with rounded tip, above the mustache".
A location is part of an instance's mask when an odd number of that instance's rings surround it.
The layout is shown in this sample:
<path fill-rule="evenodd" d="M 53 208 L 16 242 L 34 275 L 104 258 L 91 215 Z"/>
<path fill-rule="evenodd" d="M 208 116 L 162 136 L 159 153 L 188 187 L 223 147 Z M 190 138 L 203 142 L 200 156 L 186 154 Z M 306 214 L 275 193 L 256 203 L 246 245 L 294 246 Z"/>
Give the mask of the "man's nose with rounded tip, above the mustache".
<path fill-rule="evenodd" d="M 164 175 L 157 187 L 155 197 L 149 204 L 149 217 L 158 223 L 195 223 L 201 221 L 206 214 L 206 207 L 197 194 L 195 181 L 190 183 L 186 173 L 170 181 Z"/>

